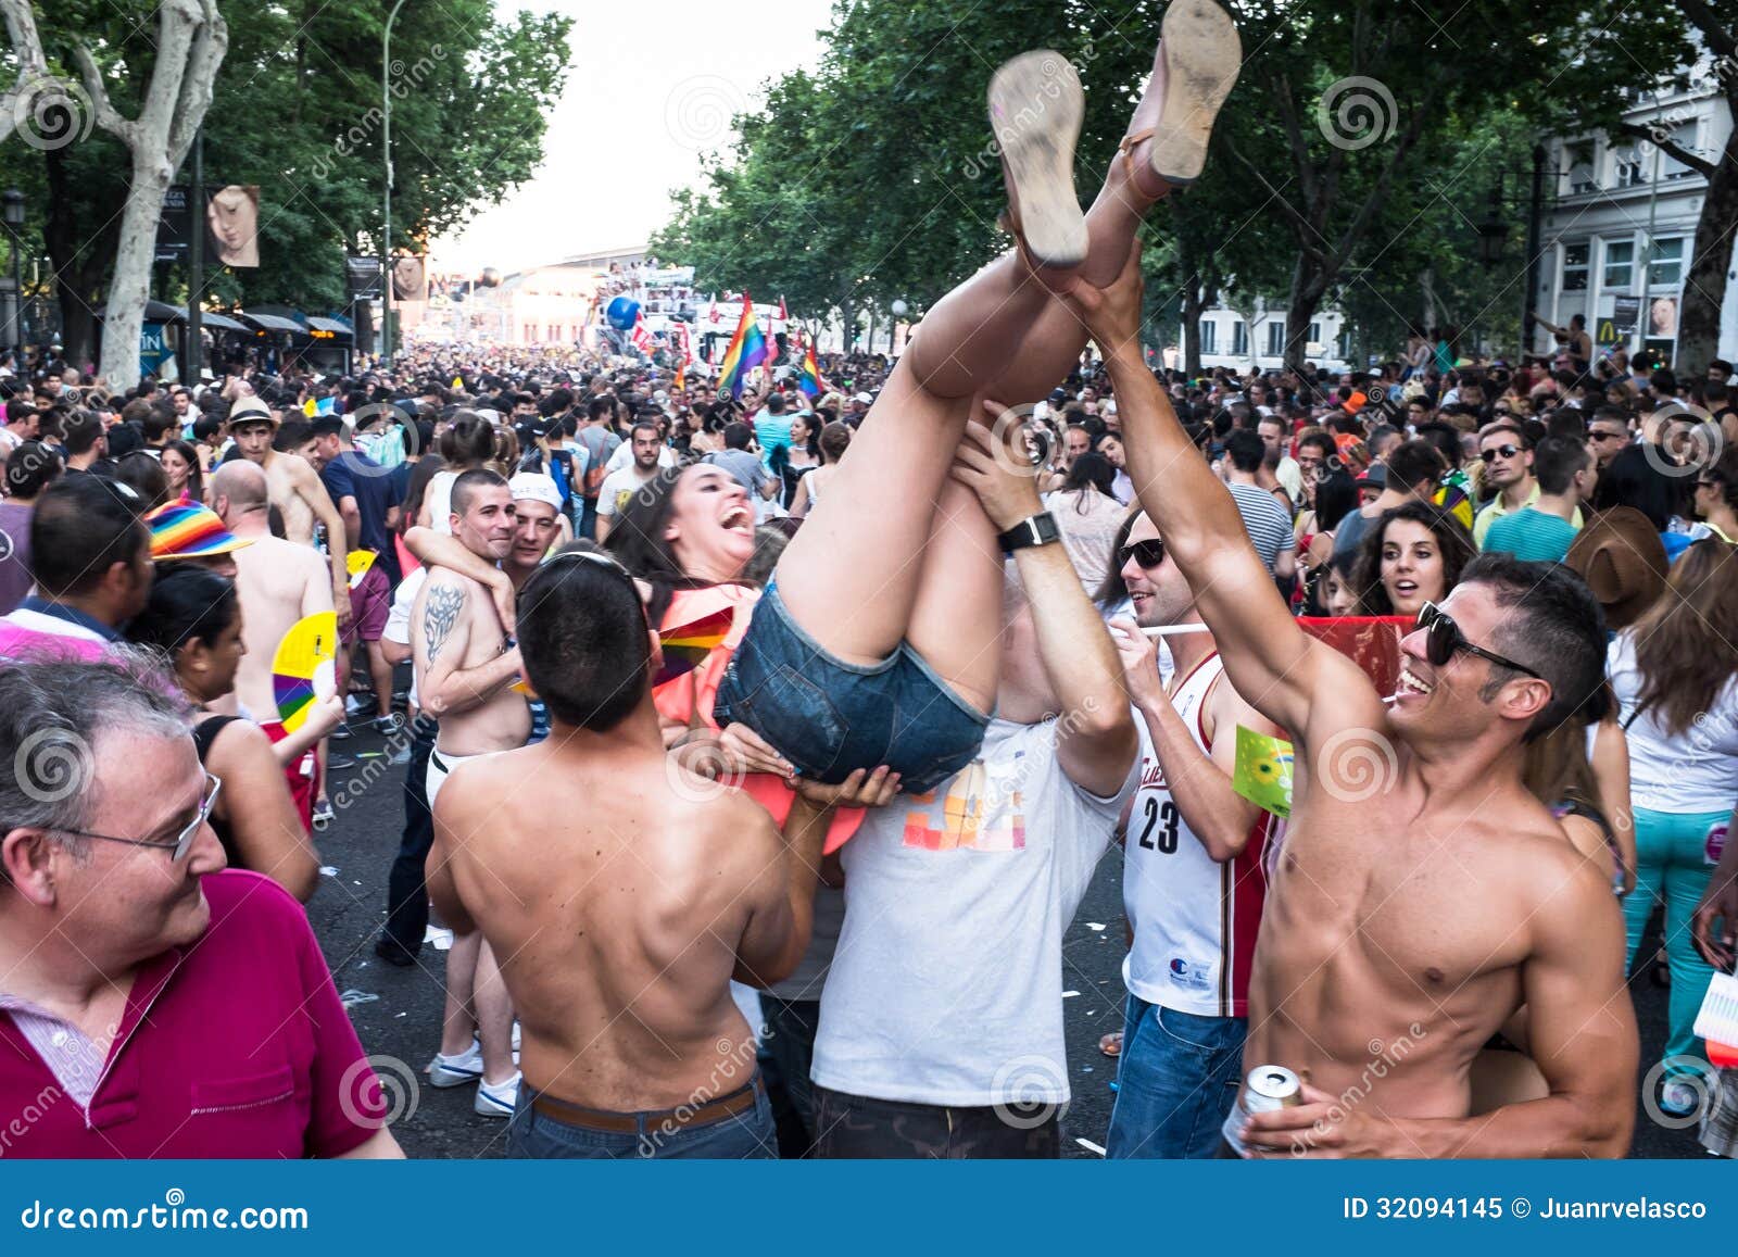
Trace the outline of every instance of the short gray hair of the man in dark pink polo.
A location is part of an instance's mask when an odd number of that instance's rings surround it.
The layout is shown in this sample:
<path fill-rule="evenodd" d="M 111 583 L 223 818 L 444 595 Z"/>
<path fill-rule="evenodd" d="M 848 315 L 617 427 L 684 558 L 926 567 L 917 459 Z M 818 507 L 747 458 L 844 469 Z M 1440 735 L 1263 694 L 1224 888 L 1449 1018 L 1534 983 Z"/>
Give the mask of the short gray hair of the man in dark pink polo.
<path fill-rule="evenodd" d="M 0 835 L 80 829 L 103 781 L 99 734 L 188 737 L 188 704 L 162 662 L 111 647 L 101 662 L 31 655 L 0 666 Z M 82 843 L 59 836 L 80 852 Z"/>

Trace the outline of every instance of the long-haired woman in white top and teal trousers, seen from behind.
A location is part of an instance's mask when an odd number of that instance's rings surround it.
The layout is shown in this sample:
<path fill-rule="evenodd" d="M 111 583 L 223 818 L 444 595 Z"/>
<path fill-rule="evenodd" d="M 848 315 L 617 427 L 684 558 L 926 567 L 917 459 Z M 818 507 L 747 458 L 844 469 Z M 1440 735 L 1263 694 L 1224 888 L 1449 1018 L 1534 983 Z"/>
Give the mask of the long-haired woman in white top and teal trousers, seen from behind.
<path fill-rule="evenodd" d="M 1629 734 L 1635 803 L 1635 894 L 1623 901 L 1635 961 L 1655 899 L 1665 899 L 1672 1000 L 1660 1107 L 1688 1116 L 1693 1061 L 1707 1047 L 1691 1026 L 1714 970 L 1691 942 L 1738 805 L 1738 549 L 1707 537 L 1672 565 L 1665 593 L 1611 643 L 1609 678 Z M 1707 1069 L 1707 1066 L 1703 1066 Z"/>

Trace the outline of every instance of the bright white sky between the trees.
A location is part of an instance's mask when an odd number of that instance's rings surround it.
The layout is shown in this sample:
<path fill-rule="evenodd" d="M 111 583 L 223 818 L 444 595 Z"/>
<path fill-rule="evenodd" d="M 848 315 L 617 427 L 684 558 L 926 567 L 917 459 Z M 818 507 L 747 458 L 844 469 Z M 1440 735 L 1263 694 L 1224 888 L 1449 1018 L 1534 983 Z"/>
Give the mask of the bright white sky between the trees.
<path fill-rule="evenodd" d="M 497 0 L 574 17 L 572 64 L 549 115 L 544 163 L 507 200 L 433 242 L 433 268 L 502 273 L 568 254 L 645 243 L 700 155 L 730 141 L 730 115 L 813 64 L 831 0 Z M 744 21 L 744 12 L 754 21 Z"/>

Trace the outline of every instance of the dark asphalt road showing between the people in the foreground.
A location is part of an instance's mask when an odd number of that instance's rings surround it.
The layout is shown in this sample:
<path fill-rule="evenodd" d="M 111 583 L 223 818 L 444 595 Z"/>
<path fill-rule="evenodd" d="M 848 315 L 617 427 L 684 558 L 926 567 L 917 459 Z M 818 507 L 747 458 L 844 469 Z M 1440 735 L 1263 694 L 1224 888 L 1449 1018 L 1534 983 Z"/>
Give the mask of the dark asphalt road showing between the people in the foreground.
<path fill-rule="evenodd" d="M 363 1047 L 400 1109 L 393 1130 L 410 1156 L 501 1156 L 506 1125 L 471 1111 L 473 1090 L 434 1090 L 422 1067 L 440 1040 L 445 953 L 424 946 L 421 965 L 395 968 L 374 954 L 374 937 L 386 916 L 386 875 L 398 852 L 403 824 L 403 768 L 391 767 L 386 739 L 363 723 L 355 737 L 334 746 L 358 760 L 334 774 L 334 800 L 342 788 L 337 821 L 316 835 L 330 873 L 308 906 L 337 988 L 351 1001 L 351 1019 Z M 1069 1073 L 1074 1101 L 1062 1118 L 1064 1154 L 1097 1156 L 1111 1120 L 1116 1062 L 1100 1055 L 1098 1038 L 1123 1021 L 1123 895 L 1121 854 L 1105 857 L 1062 944 Z M 1651 944 L 1649 944 L 1651 946 Z M 1632 982 L 1641 1021 L 1642 1064 L 1665 1041 L 1667 993 L 1646 975 Z M 1637 1095 L 1641 1080 L 1637 1080 Z M 1088 1147 L 1088 1144 L 1095 1147 Z M 1637 1101 L 1632 1156 L 1702 1156 L 1695 1128 L 1670 1130 L 1653 1121 Z"/>

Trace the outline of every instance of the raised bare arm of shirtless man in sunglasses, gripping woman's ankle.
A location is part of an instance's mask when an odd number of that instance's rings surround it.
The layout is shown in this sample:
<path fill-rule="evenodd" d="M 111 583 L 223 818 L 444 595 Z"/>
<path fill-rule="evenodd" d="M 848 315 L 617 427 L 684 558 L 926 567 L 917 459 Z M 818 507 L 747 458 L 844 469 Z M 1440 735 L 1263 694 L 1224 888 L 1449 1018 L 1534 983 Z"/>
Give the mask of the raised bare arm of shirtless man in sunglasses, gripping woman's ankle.
<path fill-rule="evenodd" d="M 1140 508 L 1196 591 L 1237 694 L 1283 728 L 1304 735 L 1317 695 L 1375 692 L 1357 666 L 1305 636 L 1250 544 L 1231 492 L 1177 422 L 1164 389 L 1140 360 L 1140 249 L 1109 289 L 1071 296 L 1104 353 L 1123 421 L 1128 475 Z M 1376 715 L 1368 722 L 1375 723 Z M 1335 720 L 1335 725 L 1343 720 Z"/>

